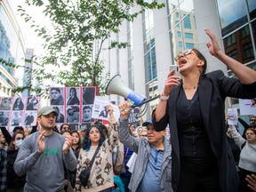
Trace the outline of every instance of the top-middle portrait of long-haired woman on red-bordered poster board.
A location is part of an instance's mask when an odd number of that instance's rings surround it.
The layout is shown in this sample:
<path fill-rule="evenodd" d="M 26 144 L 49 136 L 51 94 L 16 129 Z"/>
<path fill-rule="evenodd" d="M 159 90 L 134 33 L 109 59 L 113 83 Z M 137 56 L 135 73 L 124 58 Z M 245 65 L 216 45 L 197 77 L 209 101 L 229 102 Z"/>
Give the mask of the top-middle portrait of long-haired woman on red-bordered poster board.
<path fill-rule="evenodd" d="M 80 87 L 66 87 L 67 105 L 80 105 Z"/>

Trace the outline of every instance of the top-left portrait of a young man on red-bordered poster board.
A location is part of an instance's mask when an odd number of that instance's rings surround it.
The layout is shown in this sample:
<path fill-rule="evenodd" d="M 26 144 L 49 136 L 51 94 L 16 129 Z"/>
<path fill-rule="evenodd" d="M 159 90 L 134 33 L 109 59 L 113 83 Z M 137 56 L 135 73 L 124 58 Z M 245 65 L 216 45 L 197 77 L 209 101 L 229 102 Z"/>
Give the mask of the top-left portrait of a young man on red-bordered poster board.
<path fill-rule="evenodd" d="M 64 105 L 64 87 L 50 88 L 51 105 Z"/>

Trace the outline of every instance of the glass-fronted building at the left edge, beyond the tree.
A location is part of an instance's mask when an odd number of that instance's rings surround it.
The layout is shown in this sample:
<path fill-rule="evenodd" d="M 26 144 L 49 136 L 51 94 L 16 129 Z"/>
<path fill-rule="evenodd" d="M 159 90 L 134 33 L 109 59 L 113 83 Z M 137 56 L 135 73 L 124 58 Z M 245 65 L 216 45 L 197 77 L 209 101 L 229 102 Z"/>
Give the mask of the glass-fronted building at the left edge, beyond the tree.
<path fill-rule="evenodd" d="M 26 48 L 20 26 L 7 0 L 0 0 L 0 58 L 9 63 L 24 66 Z M 14 96 L 12 89 L 22 86 L 23 68 L 12 68 L 0 62 L 0 97 Z M 21 96 L 18 93 L 16 96 Z"/>

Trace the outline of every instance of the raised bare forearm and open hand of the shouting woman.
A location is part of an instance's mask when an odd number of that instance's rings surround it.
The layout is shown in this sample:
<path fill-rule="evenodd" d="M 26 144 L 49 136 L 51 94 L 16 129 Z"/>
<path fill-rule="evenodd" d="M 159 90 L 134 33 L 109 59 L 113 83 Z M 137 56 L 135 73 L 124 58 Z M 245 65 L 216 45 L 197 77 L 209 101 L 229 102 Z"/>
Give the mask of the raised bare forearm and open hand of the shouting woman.
<path fill-rule="evenodd" d="M 256 71 L 252 68 L 246 67 L 243 63 L 234 60 L 229 57 L 227 54 L 220 50 L 220 46 L 217 42 L 216 37 L 213 35 L 212 31 L 209 28 L 205 28 L 205 33 L 210 37 L 212 44 L 207 43 L 209 52 L 212 56 L 221 60 L 228 68 L 231 69 L 238 77 L 242 84 L 253 84 L 256 82 Z"/>

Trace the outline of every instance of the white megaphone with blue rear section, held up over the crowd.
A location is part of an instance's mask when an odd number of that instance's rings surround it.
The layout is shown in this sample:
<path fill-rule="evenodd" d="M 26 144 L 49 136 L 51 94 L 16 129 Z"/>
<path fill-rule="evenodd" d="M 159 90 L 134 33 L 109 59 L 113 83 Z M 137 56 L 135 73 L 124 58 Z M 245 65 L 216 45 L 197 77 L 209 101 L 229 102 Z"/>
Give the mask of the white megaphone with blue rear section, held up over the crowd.
<path fill-rule="evenodd" d="M 123 96 L 125 99 L 132 100 L 134 102 L 133 108 L 141 106 L 145 103 L 146 97 L 138 94 L 137 92 L 132 91 L 123 83 L 121 76 L 113 76 L 105 90 L 106 94 L 116 94 Z"/>

